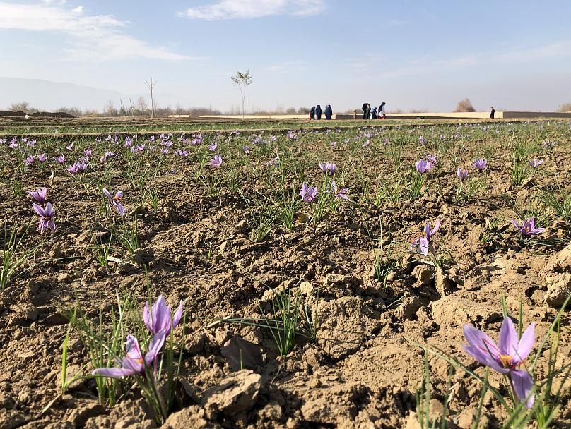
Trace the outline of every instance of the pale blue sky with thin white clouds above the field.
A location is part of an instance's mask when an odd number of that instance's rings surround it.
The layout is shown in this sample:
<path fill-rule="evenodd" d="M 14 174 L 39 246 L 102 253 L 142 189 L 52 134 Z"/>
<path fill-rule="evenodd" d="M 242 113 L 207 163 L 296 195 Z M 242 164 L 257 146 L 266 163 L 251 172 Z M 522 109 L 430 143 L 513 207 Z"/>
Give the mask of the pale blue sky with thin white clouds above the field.
<path fill-rule="evenodd" d="M 249 69 L 249 111 L 553 111 L 571 102 L 570 15 L 567 0 L 0 0 L 0 77 L 141 95 L 152 76 L 160 106 L 228 110 Z"/>

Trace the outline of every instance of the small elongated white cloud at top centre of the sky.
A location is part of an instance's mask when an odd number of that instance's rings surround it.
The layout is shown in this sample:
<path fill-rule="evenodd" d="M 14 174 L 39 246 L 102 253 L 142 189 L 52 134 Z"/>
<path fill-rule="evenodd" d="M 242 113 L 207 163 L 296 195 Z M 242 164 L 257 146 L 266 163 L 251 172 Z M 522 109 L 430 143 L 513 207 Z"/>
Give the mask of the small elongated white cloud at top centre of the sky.
<path fill-rule="evenodd" d="M 208 6 L 177 13 L 183 18 L 221 20 L 264 16 L 310 16 L 324 11 L 324 0 L 220 0 Z"/>

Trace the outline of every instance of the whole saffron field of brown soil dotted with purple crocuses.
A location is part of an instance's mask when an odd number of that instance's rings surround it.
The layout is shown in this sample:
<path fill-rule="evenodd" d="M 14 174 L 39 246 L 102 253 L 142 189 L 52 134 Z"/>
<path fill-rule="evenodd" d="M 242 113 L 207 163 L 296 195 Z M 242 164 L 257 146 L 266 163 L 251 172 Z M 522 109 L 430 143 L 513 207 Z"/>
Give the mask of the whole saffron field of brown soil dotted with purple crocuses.
<path fill-rule="evenodd" d="M 571 123 L 379 122 L 0 123 L 0 428 L 570 427 Z"/>

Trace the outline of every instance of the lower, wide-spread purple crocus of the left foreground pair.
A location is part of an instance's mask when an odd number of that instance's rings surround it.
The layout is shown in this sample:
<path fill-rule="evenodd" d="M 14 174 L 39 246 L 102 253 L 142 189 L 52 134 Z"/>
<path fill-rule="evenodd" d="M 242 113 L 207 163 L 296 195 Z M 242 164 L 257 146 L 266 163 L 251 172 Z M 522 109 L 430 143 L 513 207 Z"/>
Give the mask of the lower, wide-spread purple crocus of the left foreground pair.
<path fill-rule="evenodd" d="M 129 377 L 129 375 L 143 374 L 146 368 L 150 366 L 157 358 L 160 349 L 165 344 L 165 331 L 159 331 L 155 334 L 151 343 L 148 344 L 148 352 L 143 358 L 139 342 L 133 335 L 128 335 L 125 343 L 126 355 L 121 361 L 121 368 L 98 368 L 93 371 L 93 375 L 102 375 L 103 377 Z"/>

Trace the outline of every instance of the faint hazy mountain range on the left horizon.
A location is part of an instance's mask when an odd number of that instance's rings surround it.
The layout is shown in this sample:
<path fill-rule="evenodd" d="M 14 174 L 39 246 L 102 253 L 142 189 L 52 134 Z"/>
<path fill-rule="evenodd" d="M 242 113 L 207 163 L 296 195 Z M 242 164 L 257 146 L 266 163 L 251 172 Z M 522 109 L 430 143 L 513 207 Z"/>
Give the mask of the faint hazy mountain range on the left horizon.
<path fill-rule="evenodd" d="M 115 90 L 101 90 L 73 83 L 0 77 L 0 110 L 9 109 L 12 103 L 28 102 L 30 107 L 42 111 L 54 111 L 60 107 L 102 111 L 109 100 L 117 108 L 119 100 L 128 107 L 129 97 L 135 103 L 141 95 L 148 99 L 147 94 L 122 94 Z M 168 94 L 157 94 L 159 105 L 163 107 L 169 103 L 176 104 L 175 98 Z M 150 100 L 147 100 L 147 104 L 151 104 Z"/>

